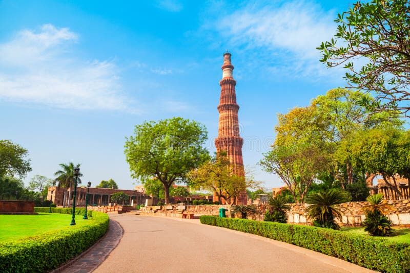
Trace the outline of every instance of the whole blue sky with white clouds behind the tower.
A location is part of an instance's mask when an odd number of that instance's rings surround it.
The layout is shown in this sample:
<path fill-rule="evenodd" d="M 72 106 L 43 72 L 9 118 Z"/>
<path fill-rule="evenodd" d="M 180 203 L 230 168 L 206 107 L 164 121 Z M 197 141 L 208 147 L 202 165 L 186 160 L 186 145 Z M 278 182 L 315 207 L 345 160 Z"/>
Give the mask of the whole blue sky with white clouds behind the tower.
<path fill-rule="evenodd" d="M 0 1 L 0 139 L 29 150 L 35 174 L 81 163 L 83 181 L 133 181 L 125 137 L 180 116 L 217 137 L 222 54 L 232 53 L 244 164 L 257 163 L 277 113 L 344 86 L 315 49 L 352 1 Z"/>

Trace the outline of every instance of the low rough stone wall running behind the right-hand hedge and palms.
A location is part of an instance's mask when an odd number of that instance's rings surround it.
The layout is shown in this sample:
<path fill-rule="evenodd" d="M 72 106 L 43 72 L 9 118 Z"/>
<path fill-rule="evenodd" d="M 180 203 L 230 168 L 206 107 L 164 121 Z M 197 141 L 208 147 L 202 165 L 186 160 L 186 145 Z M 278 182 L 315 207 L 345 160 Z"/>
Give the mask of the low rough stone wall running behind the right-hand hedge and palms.
<path fill-rule="evenodd" d="M 410 227 L 410 200 L 388 200 L 384 201 L 392 206 L 392 212 L 388 218 L 393 221 L 395 225 L 402 227 Z M 360 226 L 362 225 L 365 215 L 362 210 L 368 202 L 347 202 L 339 205 L 342 212 L 342 222 L 338 219 L 336 221 L 344 226 Z M 311 225 L 312 220 L 309 219 L 304 210 L 305 204 L 292 203 L 291 210 L 288 214 L 288 223 Z M 309 206 L 309 205 L 308 205 Z M 256 206 L 259 213 L 249 214 L 248 219 L 263 221 L 264 212 L 269 206 Z M 150 216 L 168 216 L 183 218 L 186 214 L 193 214 L 194 218 L 201 215 L 219 215 L 219 208 L 226 208 L 222 205 L 202 205 L 202 206 L 150 206 L 140 208 L 140 215 Z M 234 215 L 239 218 L 240 214 Z"/>

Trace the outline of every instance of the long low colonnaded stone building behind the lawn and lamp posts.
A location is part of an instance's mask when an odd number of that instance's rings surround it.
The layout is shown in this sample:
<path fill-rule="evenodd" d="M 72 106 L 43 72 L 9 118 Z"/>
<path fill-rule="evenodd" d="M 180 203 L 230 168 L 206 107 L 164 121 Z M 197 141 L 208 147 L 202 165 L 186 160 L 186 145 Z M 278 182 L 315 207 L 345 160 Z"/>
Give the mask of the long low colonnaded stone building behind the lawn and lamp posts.
<path fill-rule="evenodd" d="M 53 191 L 52 196 L 51 191 Z M 111 203 L 111 195 L 113 195 L 116 192 L 124 192 L 125 194 L 130 196 L 130 200 L 126 201 L 125 204 L 131 204 L 131 200 L 134 200 L 133 203 L 135 204 L 142 204 L 145 203 L 146 199 L 150 198 L 149 196 L 146 196 L 145 194 L 142 194 L 141 192 L 137 192 L 135 190 L 90 188 L 88 195 L 88 204 L 89 206 L 108 206 L 108 204 Z M 67 205 L 65 198 L 67 198 L 67 196 L 70 196 L 68 204 L 68 206 L 70 207 L 72 206 L 73 202 L 73 193 L 74 191 L 70 191 L 69 188 L 50 187 L 48 188 L 47 200 L 51 199 L 53 203 L 57 205 L 57 207 L 65 207 Z M 75 201 L 76 206 L 85 206 L 86 195 L 87 187 L 77 187 Z"/>

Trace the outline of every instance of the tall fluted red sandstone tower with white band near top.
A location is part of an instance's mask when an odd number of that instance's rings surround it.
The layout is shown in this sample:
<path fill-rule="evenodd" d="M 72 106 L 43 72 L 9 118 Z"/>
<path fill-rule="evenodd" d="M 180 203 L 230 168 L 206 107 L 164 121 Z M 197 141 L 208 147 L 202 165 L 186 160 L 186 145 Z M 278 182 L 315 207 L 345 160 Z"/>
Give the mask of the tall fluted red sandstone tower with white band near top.
<path fill-rule="evenodd" d="M 239 135 L 238 110 L 236 103 L 235 85 L 233 78 L 234 66 L 231 63 L 231 54 L 223 54 L 221 97 L 219 100 L 219 128 L 218 138 L 215 139 L 216 151 L 225 151 L 229 161 L 237 167 L 238 174 L 244 175 L 242 160 L 243 139 Z M 214 194 L 215 195 L 215 194 Z M 214 200 L 216 200 L 214 196 Z M 237 198 L 236 204 L 247 204 L 247 194 L 243 191 Z"/>

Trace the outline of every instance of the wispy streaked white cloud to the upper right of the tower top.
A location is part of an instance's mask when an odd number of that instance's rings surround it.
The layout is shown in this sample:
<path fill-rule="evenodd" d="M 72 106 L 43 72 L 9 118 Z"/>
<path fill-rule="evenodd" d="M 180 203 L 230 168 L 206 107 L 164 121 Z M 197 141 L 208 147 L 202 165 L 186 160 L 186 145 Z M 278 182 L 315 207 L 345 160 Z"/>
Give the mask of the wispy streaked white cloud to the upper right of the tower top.
<path fill-rule="evenodd" d="M 267 63 L 265 71 L 311 77 L 329 76 L 316 48 L 333 37 L 333 20 L 333 13 L 314 2 L 276 1 L 245 5 L 204 25 L 216 29 L 227 46 L 252 55 L 255 63 Z"/>

